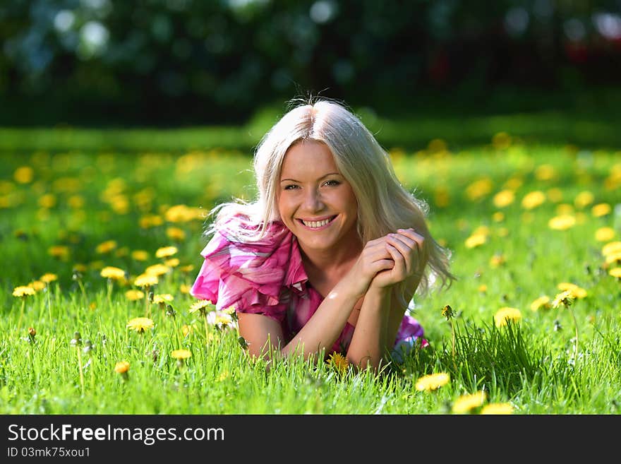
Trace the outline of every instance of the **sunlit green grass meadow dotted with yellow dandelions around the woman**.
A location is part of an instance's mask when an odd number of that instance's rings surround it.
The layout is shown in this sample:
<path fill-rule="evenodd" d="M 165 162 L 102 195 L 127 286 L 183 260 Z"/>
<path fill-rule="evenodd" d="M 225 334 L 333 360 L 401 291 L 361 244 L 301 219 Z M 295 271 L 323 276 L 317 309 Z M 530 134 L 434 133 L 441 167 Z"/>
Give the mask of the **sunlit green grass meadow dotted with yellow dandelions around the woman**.
<path fill-rule="evenodd" d="M 529 138 L 509 118 L 476 143 L 454 122 L 408 146 L 386 122 L 458 277 L 414 299 L 428 346 L 379 374 L 334 358 L 268 370 L 234 316 L 188 294 L 205 214 L 255 193 L 261 121 L 0 130 L 0 413 L 620 412 L 618 148 Z"/>

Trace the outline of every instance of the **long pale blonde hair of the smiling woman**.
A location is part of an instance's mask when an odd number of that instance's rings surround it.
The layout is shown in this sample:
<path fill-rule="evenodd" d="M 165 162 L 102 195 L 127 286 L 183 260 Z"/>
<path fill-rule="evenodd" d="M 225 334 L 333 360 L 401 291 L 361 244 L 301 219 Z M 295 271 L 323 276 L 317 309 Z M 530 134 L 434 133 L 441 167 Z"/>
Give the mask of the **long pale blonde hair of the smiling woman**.
<path fill-rule="evenodd" d="M 272 126 L 254 155 L 258 198 L 252 203 L 238 200 L 214 208 L 211 215 L 216 219 L 207 234 L 231 216 L 239 215 L 246 218 L 236 234 L 240 239 L 252 242 L 263 238 L 270 222 L 280 220 L 277 186 L 284 156 L 291 145 L 308 140 L 330 148 L 339 172 L 351 184 L 358 201 L 361 242 L 366 244 L 397 229 L 412 227 L 425 238 L 417 269 L 421 275 L 418 292 L 429 290 L 438 277 L 442 286 L 450 285 L 454 279 L 449 270 L 450 253 L 431 237 L 426 224 L 427 204 L 404 189 L 389 155 L 360 119 L 332 100 L 299 103 Z M 396 290 L 399 297 L 409 293 L 404 285 Z"/>

